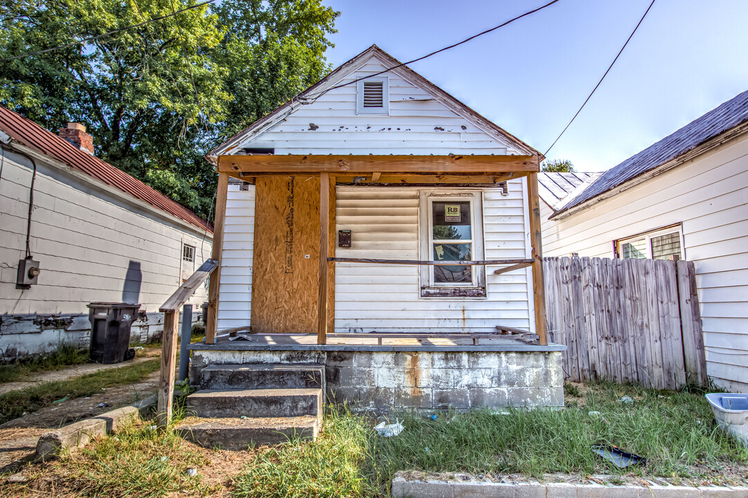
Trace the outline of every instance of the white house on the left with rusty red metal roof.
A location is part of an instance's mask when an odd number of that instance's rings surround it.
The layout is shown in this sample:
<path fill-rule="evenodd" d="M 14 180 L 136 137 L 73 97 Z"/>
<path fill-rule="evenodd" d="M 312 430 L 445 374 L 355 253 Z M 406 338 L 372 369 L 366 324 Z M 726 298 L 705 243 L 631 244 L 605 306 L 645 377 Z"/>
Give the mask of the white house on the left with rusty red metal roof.
<path fill-rule="evenodd" d="M 147 340 L 162 331 L 159 306 L 210 257 L 206 221 L 93 156 L 84 126 L 60 135 L 0 106 L 0 359 L 87 345 L 92 301 L 141 304 L 132 335 Z M 23 289 L 29 256 L 40 274 Z M 203 301 L 199 289 L 194 318 Z"/>

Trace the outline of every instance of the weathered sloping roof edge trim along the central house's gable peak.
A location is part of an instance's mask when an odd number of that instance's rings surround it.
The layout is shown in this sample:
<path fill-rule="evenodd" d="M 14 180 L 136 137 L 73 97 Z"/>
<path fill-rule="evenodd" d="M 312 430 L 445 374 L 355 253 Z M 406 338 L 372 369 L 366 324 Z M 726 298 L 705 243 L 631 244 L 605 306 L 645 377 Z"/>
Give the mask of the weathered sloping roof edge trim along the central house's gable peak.
<path fill-rule="evenodd" d="M 331 87 L 334 87 L 341 80 L 345 79 L 346 76 L 349 76 L 351 73 L 353 73 L 355 70 L 357 70 L 364 63 L 370 61 L 371 59 L 377 59 L 381 62 L 381 64 L 384 64 L 384 67 L 393 68 L 391 70 L 387 70 L 387 72 L 394 73 L 402 77 L 403 79 L 408 80 L 408 82 L 411 82 L 411 84 L 414 84 L 414 86 L 422 88 L 431 96 L 433 96 L 435 100 L 441 102 L 441 104 L 445 105 L 447 108 L 449 108 L 459 116 L 462 116 L 465 119 L 470 120 L 472 123 L 475 123 L 475 125 L 482 129 L 484 132 L 487 132 L 488 134 L 493 135 L 496 138 L 500 138 L 502 141 L 512 144 L 512 147 L 518 150 L 519 153 L 527 156 L 541 156 L 542 159 L 542 154 L 533 149 L 533 147 L 530 147 L 523 141 L 516 138 L 514 135 L 500 128 L 500 126 L 497 126 L 495 123 L 491 122 L 485 117 L 482 117 L 476 111 L 473 111 L 473 109 L 468 107 L 468 105 L 465 105 L 455 97 L 451 96 L 449 93 L 441 90 L 441 88 L 437 87 L 432 82 L 429 82 L 429 80 L 423 78 L 423 76 L 420 76 L 420 74 L 416 73 L 414 70 L 411 70 L 407 66 L 401 66 L 401 63 L 396 58 L 393 58 L 391 55 L 387 54 L 387 52 L 384 52 L 384 50 L 380 49 L 376 45 L 370 46 L 368 49 L 364 50 L 364 52 L 356 55 L 346 63 L 341 64 L 340 67 L 337 67 L 335 70 L 329 73 L 328 76 L 325 76 L 325 78 L 319 80 L 319 82 L 316 82 L 306 90 L 303 90 L 301 91 L 301 93 L 293 96 L 288 102 L 276 108 L 275 111 L 272 111 L 266 116 L 261 117 L 250 126 L 248 126 L 248 128 L 242 130 L 236 135 L 233 135 L 233 137 L 229 138 L 223 144 L 207 153 L 206 159 L 208 159 L 209 162 L 215 164 L 215 160 L 218 156 L 235 153 L 237 149 L 242 146 L 242 144 L 245 144 L 253 138 L 256 138 L 258 135 L 262 135 L 272 126 L 279 123 L 293 111 L 301 107 L 301 105 L 308 105 L 314 102 L 315 99 L 321 96 L 321 93 L 325 93 L 327 90 L 330 90 Z M 349 84 L 353 84 L 353 82 L 349 82 Z"/>

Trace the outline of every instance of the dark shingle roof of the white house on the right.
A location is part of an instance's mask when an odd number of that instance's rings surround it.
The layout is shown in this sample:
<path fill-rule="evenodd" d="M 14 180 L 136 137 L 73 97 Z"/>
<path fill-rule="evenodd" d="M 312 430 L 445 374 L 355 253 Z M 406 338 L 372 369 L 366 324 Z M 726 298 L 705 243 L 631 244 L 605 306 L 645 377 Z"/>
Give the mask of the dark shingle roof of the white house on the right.
<path fill-rule="evenodd" d="M 748 121 L 748 91 L 740 93 L 702 117 L 691 121 L 677 132 L 610 168 L 592 185 L 570 199 L 557 214 L 579 206 L 592 197 L 604 194 L 634 176 L 663 165 L 746 121 Z"/>

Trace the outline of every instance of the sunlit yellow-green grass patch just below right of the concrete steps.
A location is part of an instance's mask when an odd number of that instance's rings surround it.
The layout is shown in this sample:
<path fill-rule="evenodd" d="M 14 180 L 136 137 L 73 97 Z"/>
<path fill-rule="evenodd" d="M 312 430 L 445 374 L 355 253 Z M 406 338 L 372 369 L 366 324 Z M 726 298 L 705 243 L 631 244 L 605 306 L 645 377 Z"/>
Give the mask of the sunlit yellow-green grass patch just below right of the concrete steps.
<path fill-rule="evenodd" d="M 258 452 L 234 479 L 239 497 L 368 497 L 375 494 L 372 429 L 348 411 L 329 408 L 317 440 Z"/>

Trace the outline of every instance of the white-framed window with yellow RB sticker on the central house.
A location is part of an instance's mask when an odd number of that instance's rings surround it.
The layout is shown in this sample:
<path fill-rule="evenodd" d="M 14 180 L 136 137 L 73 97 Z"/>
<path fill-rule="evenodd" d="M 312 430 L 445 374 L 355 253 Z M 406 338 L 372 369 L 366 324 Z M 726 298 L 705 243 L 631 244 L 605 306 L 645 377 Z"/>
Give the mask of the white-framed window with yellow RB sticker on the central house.
<path fill-rule="evenodd" d="M 420 257 L 454 261 L 420 268 L 421 297 L 485 297 L 485 266 L 461 265 L 483 259 L 479 192 L 421 192 Z"/>

